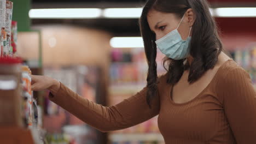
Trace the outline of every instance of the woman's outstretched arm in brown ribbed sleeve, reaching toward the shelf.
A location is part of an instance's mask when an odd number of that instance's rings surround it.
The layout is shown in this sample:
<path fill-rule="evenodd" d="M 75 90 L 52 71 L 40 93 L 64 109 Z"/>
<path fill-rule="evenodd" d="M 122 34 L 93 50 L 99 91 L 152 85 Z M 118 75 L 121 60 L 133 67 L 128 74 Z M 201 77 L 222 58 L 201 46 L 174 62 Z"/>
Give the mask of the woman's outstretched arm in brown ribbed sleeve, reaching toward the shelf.
<path fill-rule="evenodd" d="M 32 79 L 39 81 L 36 76 Z M 51 101 L 103 132 L 132 127 L 158 115 L 160 110 L 158 95 L 152 100 L 152 109 L 149 109 L 146 100 L 147 87 L 117 105 L 102 106 L 81 97 L 56 80 L 51 82 L 54 83 L 48 88 L 51 91 Z"/>

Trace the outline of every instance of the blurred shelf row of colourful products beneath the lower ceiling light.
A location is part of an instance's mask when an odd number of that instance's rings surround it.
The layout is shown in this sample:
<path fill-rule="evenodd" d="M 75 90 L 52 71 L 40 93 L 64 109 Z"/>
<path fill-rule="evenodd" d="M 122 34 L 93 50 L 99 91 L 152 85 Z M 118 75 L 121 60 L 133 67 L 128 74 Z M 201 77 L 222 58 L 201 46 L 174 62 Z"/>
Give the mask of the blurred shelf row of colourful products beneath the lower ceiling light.
<path fill-rule="evenodd" d="M 158 75 L 164 74 L 162 58 L 165 56 L 158 50 L 156 63 Z M 147 81 L 148 64 L 143 48 L 114 49 L 111 53 L 110 82 L 112 85 L 135 84 L 145 85 Z"/>

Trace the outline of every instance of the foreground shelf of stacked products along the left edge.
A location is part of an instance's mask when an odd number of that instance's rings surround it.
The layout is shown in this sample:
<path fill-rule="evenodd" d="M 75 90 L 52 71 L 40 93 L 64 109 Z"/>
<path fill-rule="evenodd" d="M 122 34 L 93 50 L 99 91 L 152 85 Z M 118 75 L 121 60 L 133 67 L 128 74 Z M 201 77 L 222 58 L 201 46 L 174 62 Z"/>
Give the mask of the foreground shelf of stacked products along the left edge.
<path fill-rule="evenodd" d="M 43 143 L 42 110 L 33 98 L 31 70 L 16 56 L 12 15 L 13 2 L 0 0 L 0 143 Z"/>

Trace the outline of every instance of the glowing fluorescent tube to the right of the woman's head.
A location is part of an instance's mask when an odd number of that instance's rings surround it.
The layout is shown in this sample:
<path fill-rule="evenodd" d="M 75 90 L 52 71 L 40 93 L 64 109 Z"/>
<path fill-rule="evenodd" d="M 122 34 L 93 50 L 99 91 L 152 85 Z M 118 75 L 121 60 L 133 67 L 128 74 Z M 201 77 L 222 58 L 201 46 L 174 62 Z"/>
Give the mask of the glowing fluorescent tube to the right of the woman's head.
<path fill-rule="evenodd" d="M 256 8 L 216 8 L 216 17 L 256 17 Z"/>

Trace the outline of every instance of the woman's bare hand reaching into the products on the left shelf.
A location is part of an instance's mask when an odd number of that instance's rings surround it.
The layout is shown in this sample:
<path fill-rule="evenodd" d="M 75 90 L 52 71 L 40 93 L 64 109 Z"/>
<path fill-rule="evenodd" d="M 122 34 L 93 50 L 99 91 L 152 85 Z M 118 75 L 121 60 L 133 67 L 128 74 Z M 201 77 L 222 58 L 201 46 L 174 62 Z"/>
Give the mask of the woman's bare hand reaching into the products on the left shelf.
<path fill-rule="evenodd" d="M 47 76 L 32 75 L 32 91 L 43 91 L 48 89 L 51 93 L 56 94 L 60 89 L 60 82 Z"/>

